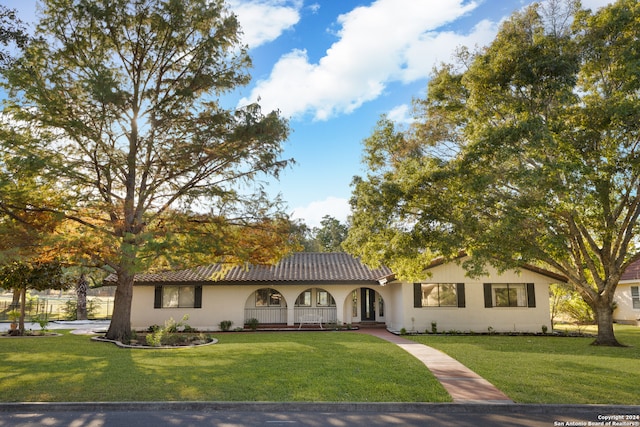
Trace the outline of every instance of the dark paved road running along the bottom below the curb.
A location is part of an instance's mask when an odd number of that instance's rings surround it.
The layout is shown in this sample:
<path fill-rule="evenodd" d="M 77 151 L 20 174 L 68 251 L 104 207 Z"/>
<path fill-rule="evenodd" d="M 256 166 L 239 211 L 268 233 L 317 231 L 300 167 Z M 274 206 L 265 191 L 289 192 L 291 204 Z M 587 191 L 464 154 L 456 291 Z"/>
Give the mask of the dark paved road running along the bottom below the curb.
<path fill-rule="evenodd" d="M 625 416 L 631 417 L 625 419 Z M 640 426 L 640 420 L 635 419 L 637 416 L 640 416 L 640 406 L 200 402 L 0 404 L 0 427 L 569 427 L 606 426 L 609 421 L 610 426 Z"/>

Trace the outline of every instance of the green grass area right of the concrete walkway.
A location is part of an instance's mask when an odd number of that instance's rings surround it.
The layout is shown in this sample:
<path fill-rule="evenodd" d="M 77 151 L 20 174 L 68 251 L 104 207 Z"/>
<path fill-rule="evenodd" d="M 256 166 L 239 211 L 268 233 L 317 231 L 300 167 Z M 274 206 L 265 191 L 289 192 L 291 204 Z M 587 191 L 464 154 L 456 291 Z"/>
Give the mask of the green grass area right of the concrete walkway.
<path fill-rule="evenodd" d="M 408 337 L 437 348 L 519 403 L 640 404 L 640 328 L 616 325 L 629 347 L 593 338 L 542 336 Z"/>

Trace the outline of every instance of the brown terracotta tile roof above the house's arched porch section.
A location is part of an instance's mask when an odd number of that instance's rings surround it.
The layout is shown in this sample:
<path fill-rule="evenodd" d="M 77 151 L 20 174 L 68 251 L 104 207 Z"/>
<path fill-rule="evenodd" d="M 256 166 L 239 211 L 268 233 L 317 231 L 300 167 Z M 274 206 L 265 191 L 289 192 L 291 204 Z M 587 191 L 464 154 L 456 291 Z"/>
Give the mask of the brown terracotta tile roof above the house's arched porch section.
<path fill-rule="evenodd" d="M 374 282 L 392 275 L 387 267 L 370 269 L 346 253 L 299 252 L 273 266 L 233 267 L 216 280 L 215 276 L 221 269 L 219 264 L 215 264 L 188 270 L 144 273 L 136 275 L 135 283 Z"/>

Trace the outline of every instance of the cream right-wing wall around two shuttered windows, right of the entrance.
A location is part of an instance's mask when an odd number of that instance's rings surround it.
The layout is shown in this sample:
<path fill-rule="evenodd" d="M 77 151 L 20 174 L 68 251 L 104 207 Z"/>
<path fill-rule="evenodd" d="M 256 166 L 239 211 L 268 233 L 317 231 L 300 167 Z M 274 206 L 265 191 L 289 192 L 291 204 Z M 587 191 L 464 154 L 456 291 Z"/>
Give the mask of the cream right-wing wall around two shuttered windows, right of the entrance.
<path fill-rule="evenodd" d="M 421 307 L 415 308 L 413 284 L 394 284 L 394 290 L 401 295 L 402 307 L 394 312 L 388 327 L 392 331 L 405 328 L 408 332 L 431 331 L 431 323 L 437 324 L 439 332 L 541 332 L 542 326 L 551 330 L 549 310 L 549 285 L 553 279 L 522 270 L 498 274 L 489 269 L 489 275 L 480 278 L 465 276 L 465 270 L 456 263 L 444 264 L 429 270 L 429 283 L 464 283 L 465 307 Z M 534 283 L 535 307 L 491 307 L 485 308 L 484 283 Z"/>

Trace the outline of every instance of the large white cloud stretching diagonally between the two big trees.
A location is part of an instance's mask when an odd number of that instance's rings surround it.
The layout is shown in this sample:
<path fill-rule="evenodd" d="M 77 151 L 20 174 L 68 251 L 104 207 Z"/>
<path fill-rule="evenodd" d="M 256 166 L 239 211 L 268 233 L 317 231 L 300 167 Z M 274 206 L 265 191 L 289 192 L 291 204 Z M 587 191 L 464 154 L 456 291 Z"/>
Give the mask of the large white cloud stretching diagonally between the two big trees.
<path fill-rule="evenodd" d="M 313 114 L 326 120 L 350 113 L 384 93 L 394 81 L 428 78 L 438 61 L 450 61 L 460 45 L 484 45 L 497 32 L 484 21 L 468 34 L 437 32 L 470 13 L 476 2 L 377 0 L 338 17 L 335 42 L 317 63 L 304 50 L 282 56 L 268 79 L 259 81 L 241 104 L 258 97 L 265 111 L 285 116 Z"/>

